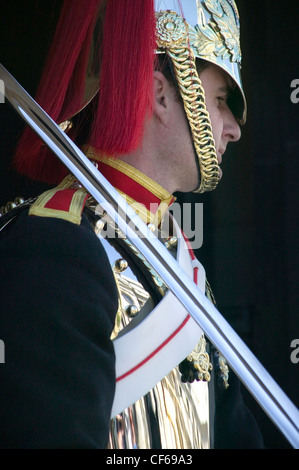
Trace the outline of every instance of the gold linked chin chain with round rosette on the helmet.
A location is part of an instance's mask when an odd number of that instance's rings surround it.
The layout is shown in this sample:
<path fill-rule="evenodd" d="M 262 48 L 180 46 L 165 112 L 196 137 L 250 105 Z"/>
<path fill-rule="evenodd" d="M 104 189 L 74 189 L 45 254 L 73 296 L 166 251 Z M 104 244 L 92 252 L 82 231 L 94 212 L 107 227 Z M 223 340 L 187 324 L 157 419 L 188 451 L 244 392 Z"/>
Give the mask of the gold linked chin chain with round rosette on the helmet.
<path fill-rule="evenodd" d="M 212 191 L 220 180 L 220 168 L 204 89 L 188 44 L 187 23 L 175 12 L 160 12 L 156 17 L 158 52 L 166 53 L 173 64 L 198 158 L 200 182 L 194 192 Z"/>

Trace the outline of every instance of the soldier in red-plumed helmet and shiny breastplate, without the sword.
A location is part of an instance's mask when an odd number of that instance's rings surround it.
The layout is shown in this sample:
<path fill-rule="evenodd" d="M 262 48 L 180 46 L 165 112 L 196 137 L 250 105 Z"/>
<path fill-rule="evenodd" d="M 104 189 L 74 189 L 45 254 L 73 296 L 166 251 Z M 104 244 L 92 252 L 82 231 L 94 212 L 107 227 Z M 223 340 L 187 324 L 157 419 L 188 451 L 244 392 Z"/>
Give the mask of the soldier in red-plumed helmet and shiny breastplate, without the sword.
<path fill-rule="evenodd" d="M 213 301 L 168 207 L 215 189 L 240 138 L 238 12 L 139 3 L 66 0 L 37 100 Z M 1 447 L 261 447 L 225 359 L 103 208 L 29 130 L 15 164 L 55 186 L 0 219 Z"/>

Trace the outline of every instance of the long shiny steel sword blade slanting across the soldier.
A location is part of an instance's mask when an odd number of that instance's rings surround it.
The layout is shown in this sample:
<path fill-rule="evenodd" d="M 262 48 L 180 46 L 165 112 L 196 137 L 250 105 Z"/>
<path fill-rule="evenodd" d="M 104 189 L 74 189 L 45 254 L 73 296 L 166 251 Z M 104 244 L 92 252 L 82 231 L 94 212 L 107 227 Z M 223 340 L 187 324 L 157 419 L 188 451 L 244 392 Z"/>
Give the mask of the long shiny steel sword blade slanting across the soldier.
<path fill-rule="evenodd" d="M 299 410 L 148 226 L 81 150 L 0 64 L 5 98 L 148 260 L 207 338 L 223 354 L 272 422 L 299 448 Z"/>

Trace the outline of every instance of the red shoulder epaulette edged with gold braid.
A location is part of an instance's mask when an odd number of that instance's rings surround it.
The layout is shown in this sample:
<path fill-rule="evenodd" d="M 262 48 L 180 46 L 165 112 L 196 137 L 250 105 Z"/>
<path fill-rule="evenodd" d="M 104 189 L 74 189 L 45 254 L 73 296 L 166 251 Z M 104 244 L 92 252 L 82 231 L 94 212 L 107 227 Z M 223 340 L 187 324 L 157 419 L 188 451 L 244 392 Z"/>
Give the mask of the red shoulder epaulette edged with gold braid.
<path fill-rule="evenodd" d="M 54 217 L 80 225 L 87 198 L 87 191 L 69 175 L 59 186 L 41 194 L 30 207 L 29 215 Z"/>

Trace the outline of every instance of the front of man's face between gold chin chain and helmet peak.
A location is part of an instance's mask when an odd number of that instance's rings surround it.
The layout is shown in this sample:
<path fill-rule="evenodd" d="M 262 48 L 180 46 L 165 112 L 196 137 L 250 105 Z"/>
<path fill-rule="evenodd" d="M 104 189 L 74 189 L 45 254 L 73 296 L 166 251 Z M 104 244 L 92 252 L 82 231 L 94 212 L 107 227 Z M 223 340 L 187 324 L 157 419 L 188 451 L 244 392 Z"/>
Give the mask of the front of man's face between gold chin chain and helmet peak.
<path fill-rule="evenodd" d="M 229 142 L 237 142 L 241 137 L 240 127 L 227 104 L 232 89 L 232 79 L 216 65 L 210 65 L 200 74 L 205 90 L 206 107 L 210 115 L 218 163 Z M 220 174 L 222 172 L 220 170 Z"/>

